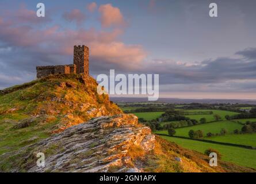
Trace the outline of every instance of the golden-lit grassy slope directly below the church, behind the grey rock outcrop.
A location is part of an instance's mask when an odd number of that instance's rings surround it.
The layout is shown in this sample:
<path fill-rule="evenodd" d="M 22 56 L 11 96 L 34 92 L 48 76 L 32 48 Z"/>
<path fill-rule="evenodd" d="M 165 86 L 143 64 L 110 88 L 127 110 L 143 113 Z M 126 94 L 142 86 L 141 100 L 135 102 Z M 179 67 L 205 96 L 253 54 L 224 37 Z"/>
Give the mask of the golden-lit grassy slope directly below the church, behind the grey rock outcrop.
<path fill-rule="evenodd" d="M 0 91 L 0 155 L 121 110 L 82 75 L 55 75 Z"/>

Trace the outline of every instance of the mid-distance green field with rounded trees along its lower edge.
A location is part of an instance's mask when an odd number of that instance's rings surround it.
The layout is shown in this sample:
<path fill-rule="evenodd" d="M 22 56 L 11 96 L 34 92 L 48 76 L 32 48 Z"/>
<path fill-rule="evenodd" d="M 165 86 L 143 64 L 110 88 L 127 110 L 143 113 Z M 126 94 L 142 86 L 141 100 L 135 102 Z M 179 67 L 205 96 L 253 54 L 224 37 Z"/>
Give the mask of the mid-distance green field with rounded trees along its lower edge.
<path fill-rule="evenodd" d="M 236 122 L 232 121 L 218 121 L 218 122 L 209 122 L 207 124 L 194 125 L 192 127 L 184 127 L 175 129 L 175 136 L 184 136 L 189 137 L 189 131 L 192 129 L 194 131 L 202 130 L 204 132 L 204 136 L 207 133 L 220 133 L 221 128 L 225 128 L 228 133 L 233 133 L 235 129 L 241 129 L 243 125 L 240 125 Z M 165 131 L 156 131 L 156 133 L 168 134 L 167 130 Z"/>

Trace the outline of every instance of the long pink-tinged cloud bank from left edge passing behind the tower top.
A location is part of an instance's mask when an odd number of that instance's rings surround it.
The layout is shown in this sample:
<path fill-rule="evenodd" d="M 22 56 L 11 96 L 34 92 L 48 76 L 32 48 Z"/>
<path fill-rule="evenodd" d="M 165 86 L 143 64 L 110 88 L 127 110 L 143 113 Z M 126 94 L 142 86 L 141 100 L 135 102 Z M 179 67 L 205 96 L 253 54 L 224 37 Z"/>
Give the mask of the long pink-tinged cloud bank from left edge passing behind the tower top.
<path fill-rule="evenodd" d="M 106 63 L 116 67 L 132 68 L 146 57 L 146 52 L 140 45 L 126 45 L 119 40 L 122 29 L 97 30 L 85 29 L 59 29 L 51 26 L 37 29 L 34 26 L 13 24 L 0 17 L 0 40 L 6 47 L 22 48 L 33 55 L 42 56 L 72 56 L 73 45 L 88 45 L 90 58 L 98 65 Z M 52 57 L 53 58 L 53 57 Z M 50 60 L 45 61 L 49 64 Z M 43 64 L 43 63 L 42 63 Z M 61 63 L 59 63 L 61 64 Z"/>

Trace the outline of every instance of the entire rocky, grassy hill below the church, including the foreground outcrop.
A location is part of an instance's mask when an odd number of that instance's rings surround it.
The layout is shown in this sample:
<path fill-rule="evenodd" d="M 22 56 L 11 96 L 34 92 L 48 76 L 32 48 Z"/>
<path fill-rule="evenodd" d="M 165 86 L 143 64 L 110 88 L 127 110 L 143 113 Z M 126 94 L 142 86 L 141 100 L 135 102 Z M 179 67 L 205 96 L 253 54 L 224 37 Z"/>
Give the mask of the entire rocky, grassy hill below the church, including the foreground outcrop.
<path fill-rule="evenodd" d="M 207 156 L 155 138 L 96 87 L 93 78 L 61 74 L 0 91 L 0 171 L 255 171 L 209 167 Z M 36 166 L 38 152 L 44 168 Z"/>

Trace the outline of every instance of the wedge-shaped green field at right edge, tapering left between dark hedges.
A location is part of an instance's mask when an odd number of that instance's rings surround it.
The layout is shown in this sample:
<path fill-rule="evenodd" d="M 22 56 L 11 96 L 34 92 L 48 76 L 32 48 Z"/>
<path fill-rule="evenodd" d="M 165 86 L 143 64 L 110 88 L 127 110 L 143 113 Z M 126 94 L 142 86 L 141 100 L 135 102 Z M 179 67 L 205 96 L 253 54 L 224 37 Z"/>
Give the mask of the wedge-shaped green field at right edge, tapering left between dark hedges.
<path fill-rule="evenodd" d="M 225 136 L 213 136 L 205 137 L 206 140 L 213 140 L 221 143 L 233 143 L 242 145 L 251 145 L 256 147 L 256 133 L 246 133 L 246 134 L 230 134 Z M 256 155 L 255 155 L 256 156 Z"/>

